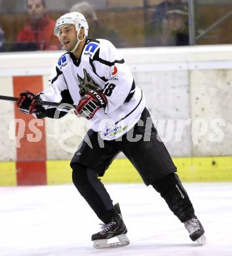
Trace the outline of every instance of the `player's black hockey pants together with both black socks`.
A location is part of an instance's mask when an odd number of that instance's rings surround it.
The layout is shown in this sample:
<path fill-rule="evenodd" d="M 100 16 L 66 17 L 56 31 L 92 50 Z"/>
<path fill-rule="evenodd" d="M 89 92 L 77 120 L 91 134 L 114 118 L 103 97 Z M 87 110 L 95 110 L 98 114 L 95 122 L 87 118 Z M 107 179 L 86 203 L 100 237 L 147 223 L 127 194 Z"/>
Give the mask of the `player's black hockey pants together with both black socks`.
<path fill-rule="evenodd" d="M 73 183 L 96 215 L 104 223 L 109 223 L 113 216 L 113 203 L 98 177 L 104 175 L 111 161 L 123 151 L 140 173 L 144 183 L 147 186 L 151 184 L 161 194 L 180 221 L 187 221 L 194 216 L 193 206 L 178 175 L 174 174 L 176 167 L 159 139 L 146 108 L 140 121 L 134 129 L 123 135 L 121 141 L 104 141 L 103 148 L 100 147 L 98 133 L 89 130 L 87 135 L 92 148 L 84 140 L 71 160 Z M 142 139 L 136 142 L 128 141 L 128 134 L 132 135 L 132 138 L 140 135 Z"/>

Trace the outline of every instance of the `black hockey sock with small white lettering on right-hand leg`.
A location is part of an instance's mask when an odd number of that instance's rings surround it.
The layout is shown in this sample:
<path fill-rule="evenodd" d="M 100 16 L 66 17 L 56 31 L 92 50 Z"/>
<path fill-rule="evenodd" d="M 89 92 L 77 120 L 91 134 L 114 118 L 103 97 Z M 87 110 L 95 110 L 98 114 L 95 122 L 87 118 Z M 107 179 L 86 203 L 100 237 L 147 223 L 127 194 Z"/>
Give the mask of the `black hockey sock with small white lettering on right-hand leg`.
<path fill-rule="evenodd" d="M 161 194 L 170 210 L 182 223 L 195 216 L 193 205 L 176 173 L 167 175 L 152 186 Z"/>

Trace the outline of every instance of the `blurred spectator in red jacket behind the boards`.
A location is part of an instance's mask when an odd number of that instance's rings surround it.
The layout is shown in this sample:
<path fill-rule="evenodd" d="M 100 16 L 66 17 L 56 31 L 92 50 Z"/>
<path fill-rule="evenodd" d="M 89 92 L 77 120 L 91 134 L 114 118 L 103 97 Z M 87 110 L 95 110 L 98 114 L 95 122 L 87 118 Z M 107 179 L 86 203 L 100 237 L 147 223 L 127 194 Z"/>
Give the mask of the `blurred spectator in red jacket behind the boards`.
<path fill-rule="evenodd" d="M 55 22 L 46 13 L 44 0 L 28 0 L 28 24 L 18 33 L 17 43 L 35 43 L 37 50 L 59 50 L 60 42 L 54 36 Z"/>

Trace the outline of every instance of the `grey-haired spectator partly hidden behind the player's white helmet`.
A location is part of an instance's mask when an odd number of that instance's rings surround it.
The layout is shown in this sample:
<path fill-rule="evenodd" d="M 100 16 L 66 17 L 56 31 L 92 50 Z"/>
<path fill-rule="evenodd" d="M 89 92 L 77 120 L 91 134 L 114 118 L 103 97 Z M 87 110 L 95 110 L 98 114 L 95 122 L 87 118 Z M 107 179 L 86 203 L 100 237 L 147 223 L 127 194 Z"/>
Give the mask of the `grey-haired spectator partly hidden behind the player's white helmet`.
<path fill-rule="evenodd" d="M 73 5 L 70 12 L 81 12 L 88 22 L 88 37 L 91 39 L 101 38 L 107 39 L 117 48 L 125 47 L 125 42 L 115 30 L 109 30 L 101 26 L 98 22 L 96 12 L 87 2 L 81 2 Z"/>

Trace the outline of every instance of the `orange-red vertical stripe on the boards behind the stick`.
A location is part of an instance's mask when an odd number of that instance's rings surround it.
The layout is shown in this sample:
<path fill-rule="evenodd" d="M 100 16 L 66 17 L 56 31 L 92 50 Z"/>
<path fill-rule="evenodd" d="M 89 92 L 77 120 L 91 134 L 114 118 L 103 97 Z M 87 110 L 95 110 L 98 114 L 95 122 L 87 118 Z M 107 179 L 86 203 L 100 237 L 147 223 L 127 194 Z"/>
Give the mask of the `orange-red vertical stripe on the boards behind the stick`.
<path fill-rule="evenodd" d="M 14 96 L 18 96 L 22 91 L 33 91 L 39 93 L 43 91 L 42 75 L 37 76 L 17 76 L 13 77 Z M 45 142 L 45 122 L 43 126 L 38 126 L 42 137 L 38 142 L 29 142 L 26 138 L 29 133 L 28 123 L 33 116 L 27 116 L 18 111 L 14 105 L 14 116 L 16 119 L 25 121 L 24 137 L 21 146 L 16 149 L 16 180 L 18 185 L 47 184 L 46 175 L 46 142 Z M 18 133 L 16 129 L 16 133 Z"/>

